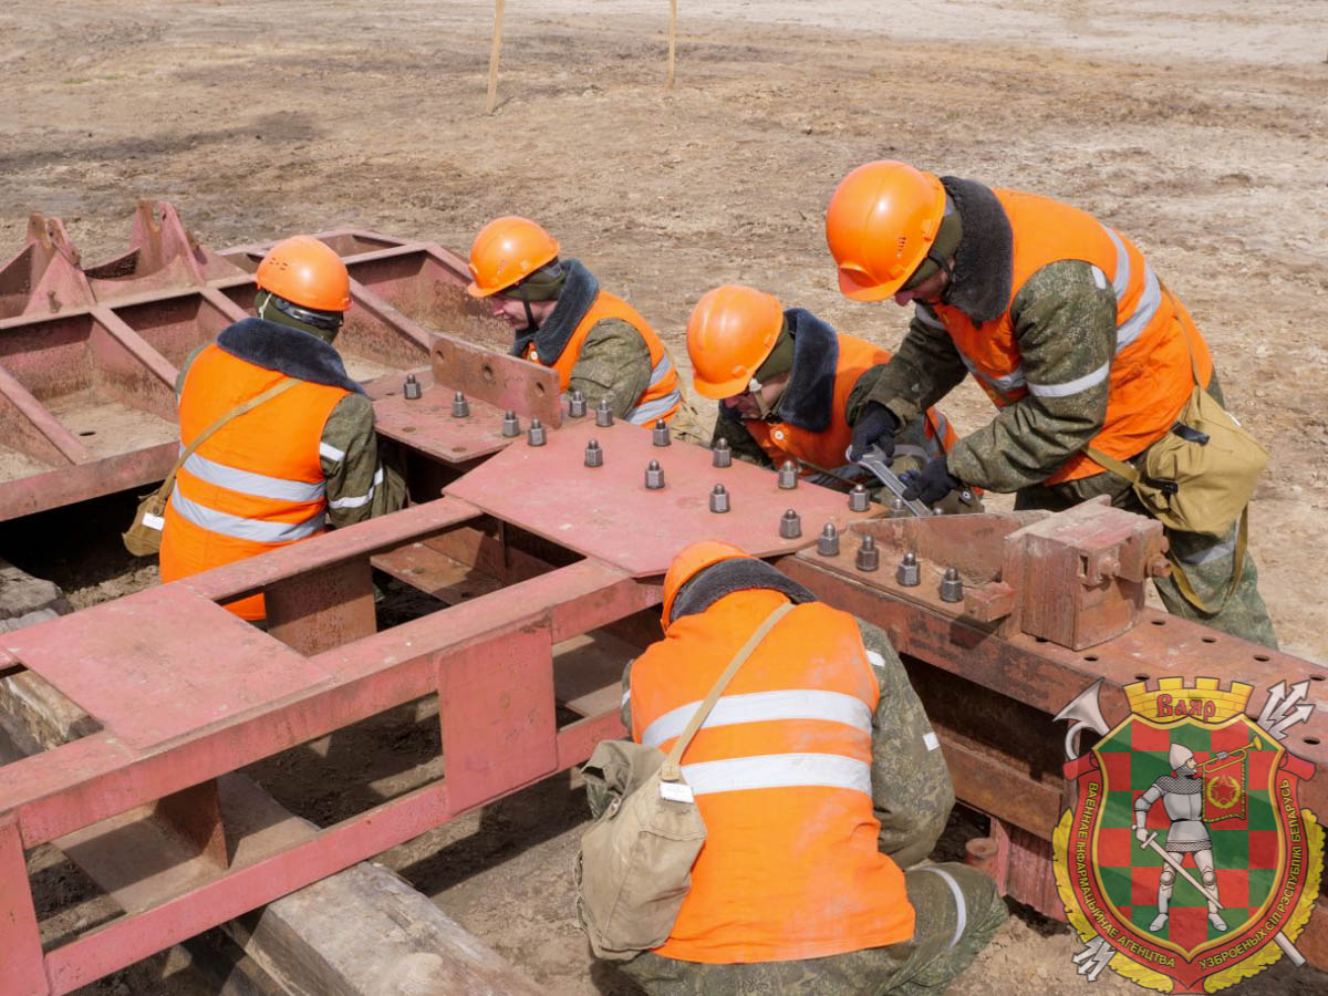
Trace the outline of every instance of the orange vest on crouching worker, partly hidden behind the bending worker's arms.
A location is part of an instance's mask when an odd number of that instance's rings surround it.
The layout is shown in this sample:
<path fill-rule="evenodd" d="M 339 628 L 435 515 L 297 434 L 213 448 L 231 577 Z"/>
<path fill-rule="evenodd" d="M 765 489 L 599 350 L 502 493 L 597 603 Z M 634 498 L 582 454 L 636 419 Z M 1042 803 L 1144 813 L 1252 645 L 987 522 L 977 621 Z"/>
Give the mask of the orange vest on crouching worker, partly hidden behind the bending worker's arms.
<path fill-rule="evenodd" d="M 839 333 L 839 361 L 834 373 L 834 398 L 830 404 L 830 425 L 822 432 L 811 432 L 789 422 L 766 422 L 744 420 L 742 428 L 752 434 L 776 466 L 793 457 L 795 461 L 813 465 L 805 474 L 814 474 L 815 467 L 823 470 L 851 470 L 846 466 L 853 428 L 845 421 L 843 409 L 849 404 L 858 378 L 872 367 L 890 361 L 890 351 L 872 345 L 865 339 Z M 927 409 L 924 428 L 924 452 L 916 454 L 923 459 L 939 457 L 950 452 L 959 437 L 950 421 L 936 409 Z M 899 446 L 896 453 L 906 453 L 907 446 Z"/>

